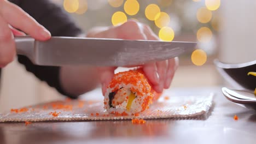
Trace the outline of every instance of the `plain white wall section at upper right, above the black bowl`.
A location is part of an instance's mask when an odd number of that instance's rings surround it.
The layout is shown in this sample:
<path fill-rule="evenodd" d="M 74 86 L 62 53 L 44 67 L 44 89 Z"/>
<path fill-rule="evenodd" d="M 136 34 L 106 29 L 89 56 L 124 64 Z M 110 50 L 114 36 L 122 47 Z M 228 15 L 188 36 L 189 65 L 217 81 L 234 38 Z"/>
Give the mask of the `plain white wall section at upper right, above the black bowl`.
<path fill-rule="evenodd" d="M 223 0 L 219 59 L 243 63 L 256 59 L 256 1 Z"/>

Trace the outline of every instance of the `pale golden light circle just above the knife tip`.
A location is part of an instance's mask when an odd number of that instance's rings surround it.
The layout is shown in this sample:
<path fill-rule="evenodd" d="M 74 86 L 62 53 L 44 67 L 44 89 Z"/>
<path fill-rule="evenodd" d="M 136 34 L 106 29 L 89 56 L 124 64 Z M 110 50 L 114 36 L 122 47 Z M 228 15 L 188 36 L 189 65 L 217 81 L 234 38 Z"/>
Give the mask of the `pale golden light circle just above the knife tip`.
<path fill-rule="evenodd" d="M 212 31 L 208 27 L 201 27 L 196 33 L 196 38 L 201 43 L 207 43 L 212 39 Z"/>

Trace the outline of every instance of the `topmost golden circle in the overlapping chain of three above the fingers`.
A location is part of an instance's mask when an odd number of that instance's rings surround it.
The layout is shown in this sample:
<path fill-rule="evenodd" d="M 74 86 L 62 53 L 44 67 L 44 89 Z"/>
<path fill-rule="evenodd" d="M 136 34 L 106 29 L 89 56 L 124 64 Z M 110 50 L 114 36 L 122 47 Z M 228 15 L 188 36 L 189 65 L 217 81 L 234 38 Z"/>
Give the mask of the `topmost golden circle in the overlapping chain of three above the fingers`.
<path fill-rule="evenodd" d="M 156 4 L 149 4 L 145 9 L 145 15 L 150 21 L 155 20 L 155 16 L 160 13 L 160 8 Z"/>

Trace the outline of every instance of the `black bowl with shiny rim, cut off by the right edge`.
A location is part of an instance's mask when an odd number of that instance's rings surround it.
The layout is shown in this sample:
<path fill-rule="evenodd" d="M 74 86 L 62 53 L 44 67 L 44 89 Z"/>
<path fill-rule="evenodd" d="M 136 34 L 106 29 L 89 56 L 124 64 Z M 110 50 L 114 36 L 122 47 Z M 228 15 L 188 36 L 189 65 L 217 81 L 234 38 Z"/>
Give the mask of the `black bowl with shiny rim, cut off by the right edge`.
<path fill-rule="evenodd" d="M 216 60 L 214 63 L 219 73 L 225 80 L 229 81 L 231 85 L 251 90 L 256 88 L 256 76 L 247 75 L 250 71 L 256 72 L 256 61 L 228 64 Z"/>

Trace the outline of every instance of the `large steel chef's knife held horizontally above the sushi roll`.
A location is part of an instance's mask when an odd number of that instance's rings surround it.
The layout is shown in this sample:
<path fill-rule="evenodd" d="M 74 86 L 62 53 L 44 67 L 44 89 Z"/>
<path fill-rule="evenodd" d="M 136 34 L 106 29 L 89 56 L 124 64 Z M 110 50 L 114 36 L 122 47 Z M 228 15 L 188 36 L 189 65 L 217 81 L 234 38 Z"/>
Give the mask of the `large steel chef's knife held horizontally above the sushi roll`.
<path fill-rule="evenodd" d="M 196 43 L 179 41 L 123 40 L 77 37 L 51 37 L 38 41 L 15 37 L 18 55 L 34 64 L 118 66 L 141 65 L 177 57 L 193 51 Z"/>

